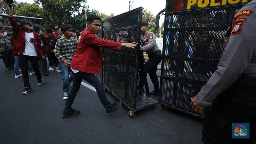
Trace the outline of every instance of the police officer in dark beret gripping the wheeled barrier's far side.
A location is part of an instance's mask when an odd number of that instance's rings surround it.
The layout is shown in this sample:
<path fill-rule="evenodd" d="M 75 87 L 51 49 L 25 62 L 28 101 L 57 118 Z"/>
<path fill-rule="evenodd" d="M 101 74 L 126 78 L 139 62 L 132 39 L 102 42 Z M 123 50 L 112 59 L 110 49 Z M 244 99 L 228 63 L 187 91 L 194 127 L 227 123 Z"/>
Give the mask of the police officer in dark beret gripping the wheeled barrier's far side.
<path fill-rule="evenodd" d="M 141 35 L 140 35 L 140 50 L 145 51 L 148 54 L 148 61 L 144 64 L 144 71 L 140 72 L 140 75 L 149 74 L 149 77 L 154 84 L 154 90 L 150 92 L 150 95 L 159 95 L 159 81 L 156 75 L 157 65 L 162 60 L 161 50 L 156 44 L 156 35 L 152 32 L 148 32 L 148 22 L 146 20 L 141 21 Z M 137 94 L 144 93 L 145 81 L 140 79 Z"/>

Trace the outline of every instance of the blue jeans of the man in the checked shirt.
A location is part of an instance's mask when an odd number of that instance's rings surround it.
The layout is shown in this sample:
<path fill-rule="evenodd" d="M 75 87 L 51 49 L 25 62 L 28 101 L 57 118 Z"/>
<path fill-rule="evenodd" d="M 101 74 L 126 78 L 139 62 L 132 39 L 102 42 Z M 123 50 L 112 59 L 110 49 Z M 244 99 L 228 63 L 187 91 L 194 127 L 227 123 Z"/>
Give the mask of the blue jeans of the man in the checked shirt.
<path fill-rule="evenodd" d="M 73 72 L 72 75 L 69 77 L 68 70 L 70 67 L 66 67 L 63 62 L 60 63 L 60 69 L 62 73 L 62 90 L 63 92 L 68 92 L 69 89 L 69 82 L 73 80 Z"/>

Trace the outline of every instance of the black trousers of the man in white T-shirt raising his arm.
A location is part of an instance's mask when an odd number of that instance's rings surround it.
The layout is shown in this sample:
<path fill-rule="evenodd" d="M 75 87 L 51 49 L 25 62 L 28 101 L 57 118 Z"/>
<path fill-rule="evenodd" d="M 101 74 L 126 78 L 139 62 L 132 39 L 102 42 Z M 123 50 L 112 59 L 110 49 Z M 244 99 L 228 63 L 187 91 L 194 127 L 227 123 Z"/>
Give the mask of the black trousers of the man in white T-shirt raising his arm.
<path fill-rule="evenodd" d="M 38 57 L 34 56 L 26 56 L 26 55 L 21 55 L 19 54 L 19 61 L 20 61 L 20 69 L 22 73 L 22 78 L 24 82 L 24 87 L 31 87 L 29 84 L 29 79 L 28 79 L 28 61 L 30 61 L 31 66 L 36 74 L 36 77 L 38 80 L 42 79 L 41 73 L 38 69 Z"/>

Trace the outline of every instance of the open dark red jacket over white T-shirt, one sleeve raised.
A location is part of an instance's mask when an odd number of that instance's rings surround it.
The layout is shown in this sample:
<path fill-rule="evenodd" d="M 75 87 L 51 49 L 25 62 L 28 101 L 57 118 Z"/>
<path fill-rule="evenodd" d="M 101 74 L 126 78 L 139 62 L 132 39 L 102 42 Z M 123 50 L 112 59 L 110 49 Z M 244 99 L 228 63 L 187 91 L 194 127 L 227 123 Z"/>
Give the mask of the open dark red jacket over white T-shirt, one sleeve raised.
<path fill-rule="evenodd" d="M 24 50 L 25 50 L 25 44 L 26 44 L 26 42 L 25 42 L 25 31 L 18 26 L 17 22 L 14 20 L 13 17 L 8 17 L 8 18 L 10 20 L 12 28 L 16 29 L 16 31 L 18 33 L 16 43 L 13 46 L 13 48 L 14 48 L 13 51 L 22 55 Z M 31 31 L 31 32 L 33 32 L 33 31 Z M 41 57 L 44 56 L 44 52 L 41 49 L 41 37 L 38 34 L 36 34 L 35 32 L 33 32 L 33 33 L 34 33 L 34 42 L 35 42 L 36 54 L 37 54 L 37 57 L 39 59 L 41 59 Z"/>

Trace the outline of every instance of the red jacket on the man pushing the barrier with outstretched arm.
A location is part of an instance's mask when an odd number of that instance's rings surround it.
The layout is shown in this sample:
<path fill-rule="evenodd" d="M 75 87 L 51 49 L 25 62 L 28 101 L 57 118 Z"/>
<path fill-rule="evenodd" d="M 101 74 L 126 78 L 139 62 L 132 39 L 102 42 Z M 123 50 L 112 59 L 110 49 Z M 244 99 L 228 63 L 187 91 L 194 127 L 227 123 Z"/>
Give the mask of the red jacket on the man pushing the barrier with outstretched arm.
<path fill-rule="evenodd" d="M 99 74 L 103 60 L 100 47 L 120 50 L 121 43 L 98 38 L 87 27 L 82 34 L 70 67 L 81 72 Z"/>

